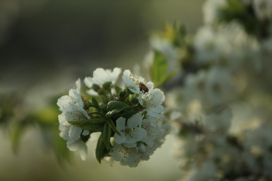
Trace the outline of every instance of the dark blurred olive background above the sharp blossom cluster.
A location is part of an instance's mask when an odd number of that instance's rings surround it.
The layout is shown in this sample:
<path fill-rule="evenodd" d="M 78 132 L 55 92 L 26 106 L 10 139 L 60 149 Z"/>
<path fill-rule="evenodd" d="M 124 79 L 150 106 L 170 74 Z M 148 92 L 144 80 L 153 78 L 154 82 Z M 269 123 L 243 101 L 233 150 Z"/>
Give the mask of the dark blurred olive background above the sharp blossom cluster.
<path fill-rule="evenodd" d="M 75 81 L 97 67 L 131 68 L 164 22 L 194 32 L 202 2 L 1 0 L 2 86 L 26 89 L 63 75 Z"/>

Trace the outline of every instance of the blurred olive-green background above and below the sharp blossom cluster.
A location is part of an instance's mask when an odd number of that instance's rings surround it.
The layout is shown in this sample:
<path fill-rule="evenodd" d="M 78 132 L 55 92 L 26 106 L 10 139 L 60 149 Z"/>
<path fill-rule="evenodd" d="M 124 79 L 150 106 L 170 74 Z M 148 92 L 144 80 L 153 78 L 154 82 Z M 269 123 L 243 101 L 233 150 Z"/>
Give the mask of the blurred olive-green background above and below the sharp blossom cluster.
<path fill-rule="evenodd" d="M 178 21 L 195 32 L 202 3 L 0 0 L 1 97 L 15 92 L 28 112 L 66 94 L 97 67 L 132 69 L 149 50 L 149 34 L 164 22 Z M 87 161 L 75 153 L 70 164 L 60 166 L 39 127 L 24 131 L 14 154 L 9 134 L 0 129 L 0 180 L 177 180 L 184 174 L 172 156 L 173 135 L 149 161 L 129 168 L 99 164 L 91 142 Z"/>

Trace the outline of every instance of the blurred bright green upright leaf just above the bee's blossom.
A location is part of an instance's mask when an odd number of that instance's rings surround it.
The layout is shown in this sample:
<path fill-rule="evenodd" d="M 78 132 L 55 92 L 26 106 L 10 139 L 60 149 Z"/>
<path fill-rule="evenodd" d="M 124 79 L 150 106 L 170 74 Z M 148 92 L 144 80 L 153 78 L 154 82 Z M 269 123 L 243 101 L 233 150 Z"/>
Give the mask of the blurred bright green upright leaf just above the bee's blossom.
<path fill-rule="evenodd" d="M 152 67 L 152 78 L 155 83 L 162 83 L 168 70 L 167 58 L 159 51 L 154 50 L 155 57 Z"/>

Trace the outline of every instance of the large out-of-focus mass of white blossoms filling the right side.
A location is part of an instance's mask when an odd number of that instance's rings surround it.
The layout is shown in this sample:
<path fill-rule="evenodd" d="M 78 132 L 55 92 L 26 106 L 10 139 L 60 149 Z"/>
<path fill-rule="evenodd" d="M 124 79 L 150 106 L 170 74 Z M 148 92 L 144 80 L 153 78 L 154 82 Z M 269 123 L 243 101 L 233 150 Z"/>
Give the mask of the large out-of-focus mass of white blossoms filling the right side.
<path fill-rule="evenodd" d="M 178 115 L 181 180 L 272 180 L 272 1 L 207 0 L 202 10 L 191 41 L 169 40 L 182 52 L 165 104 Z"/>

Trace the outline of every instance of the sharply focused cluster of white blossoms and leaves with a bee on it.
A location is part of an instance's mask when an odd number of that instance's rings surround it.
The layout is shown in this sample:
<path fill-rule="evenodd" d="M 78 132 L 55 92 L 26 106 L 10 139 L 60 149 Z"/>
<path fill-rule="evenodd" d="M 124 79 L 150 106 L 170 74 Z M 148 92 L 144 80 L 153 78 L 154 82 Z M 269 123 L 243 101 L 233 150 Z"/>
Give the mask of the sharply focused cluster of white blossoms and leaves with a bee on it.
<path fill-rule="evenodd" d="M 163 118 L 164 93 L 138 74 L 124 70 L 123 84 L 117 86 L 120 68 L 97 68 L 93 77 L 85 77 L 87 96 L 81 93 L 81 80 L 69 95 L 58 99 L 59 136 L 70 151 L 87 157 L 86 142 L 99 132 L 96 158 L 113 158 L 122 165 L 135 167 L 161 146 L 169 131 Z M 146 91 L 140 87 L 144 83 Z M 123 87 L 123 88 L 121 88 Z M 147 91 L 148 90 L 148 91 Z M 112 139 L 113 138 L 113 139 Z"/>

